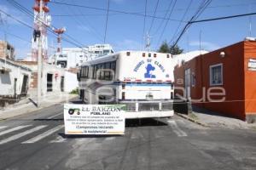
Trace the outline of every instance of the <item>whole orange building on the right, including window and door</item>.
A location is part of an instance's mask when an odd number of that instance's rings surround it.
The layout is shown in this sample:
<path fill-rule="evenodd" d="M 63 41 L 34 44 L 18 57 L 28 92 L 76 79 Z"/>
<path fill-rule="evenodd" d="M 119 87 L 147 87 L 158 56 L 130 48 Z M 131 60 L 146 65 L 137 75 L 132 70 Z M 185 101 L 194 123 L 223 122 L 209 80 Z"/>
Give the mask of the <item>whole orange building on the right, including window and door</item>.
<path fill-rule="evenodd" d="M 256 42 L 237 42 L 176 65 L 175 94 L 247 122 L 256 118 Z"/>

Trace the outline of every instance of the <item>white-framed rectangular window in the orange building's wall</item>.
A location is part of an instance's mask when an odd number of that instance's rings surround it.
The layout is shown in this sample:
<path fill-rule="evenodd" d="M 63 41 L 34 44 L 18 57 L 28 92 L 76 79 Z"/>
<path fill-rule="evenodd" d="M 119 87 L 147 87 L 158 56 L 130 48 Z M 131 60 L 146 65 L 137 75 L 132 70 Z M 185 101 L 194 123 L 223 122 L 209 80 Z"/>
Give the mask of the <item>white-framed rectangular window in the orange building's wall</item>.
<path fill-rule="evenodd" d="M 223 65 L 210 65 L 210 85 L 223 85 Z"/>

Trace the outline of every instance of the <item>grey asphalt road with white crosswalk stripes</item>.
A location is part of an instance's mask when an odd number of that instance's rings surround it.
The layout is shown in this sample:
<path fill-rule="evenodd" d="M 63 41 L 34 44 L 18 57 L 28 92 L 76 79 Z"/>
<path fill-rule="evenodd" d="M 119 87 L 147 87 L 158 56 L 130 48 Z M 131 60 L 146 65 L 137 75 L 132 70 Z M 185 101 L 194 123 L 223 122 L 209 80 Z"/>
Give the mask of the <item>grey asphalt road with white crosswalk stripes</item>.
<path fill-rule="evenodd" d="M 178 116 L 127 121 L 124 136 L 65 136 L 63 105 L 0 122 L 0 169 L 256 169 L 256 130 Z"/>

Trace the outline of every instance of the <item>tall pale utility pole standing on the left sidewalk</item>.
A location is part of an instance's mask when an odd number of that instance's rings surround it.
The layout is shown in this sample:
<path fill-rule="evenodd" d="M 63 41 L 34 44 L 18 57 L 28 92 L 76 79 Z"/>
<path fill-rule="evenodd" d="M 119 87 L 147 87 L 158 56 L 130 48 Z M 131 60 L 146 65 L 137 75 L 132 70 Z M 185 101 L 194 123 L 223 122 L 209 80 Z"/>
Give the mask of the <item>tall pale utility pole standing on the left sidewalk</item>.
<path fill-rule="evenodd" d="M 39 5 L 39 37 L 38 37 L 38 104 L 37 106 L 40 107 L 41 105 L 41 93 L 42 93 L 42 12 L 43 12 L 43 0 L 40 0 Z"/>

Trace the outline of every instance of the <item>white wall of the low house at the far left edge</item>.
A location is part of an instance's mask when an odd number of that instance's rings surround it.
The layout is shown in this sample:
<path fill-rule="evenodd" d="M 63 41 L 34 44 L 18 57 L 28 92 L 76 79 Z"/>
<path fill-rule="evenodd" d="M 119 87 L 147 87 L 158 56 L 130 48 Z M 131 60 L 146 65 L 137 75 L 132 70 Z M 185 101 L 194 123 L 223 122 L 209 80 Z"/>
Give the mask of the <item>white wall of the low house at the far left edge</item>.
<path fill-rule="evenodd" d="M 13 97 L 15 95 L 15 78 L 17 79 L 16 94 L 20 95 L 23 78 L 26 75 L 30 81 L 32 71 L 9 59 L 6 62 L 0 59 L 0 68 L 0 96 Z"/>

